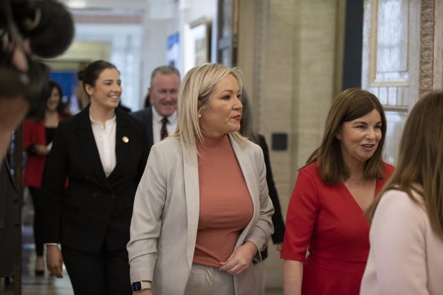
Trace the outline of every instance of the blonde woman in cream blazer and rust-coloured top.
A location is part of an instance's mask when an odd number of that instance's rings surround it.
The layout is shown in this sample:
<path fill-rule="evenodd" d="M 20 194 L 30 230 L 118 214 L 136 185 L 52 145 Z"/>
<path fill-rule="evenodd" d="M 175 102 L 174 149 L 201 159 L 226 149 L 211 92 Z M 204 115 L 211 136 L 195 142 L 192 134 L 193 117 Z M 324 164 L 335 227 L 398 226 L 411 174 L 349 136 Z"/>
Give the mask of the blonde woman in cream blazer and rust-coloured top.
<path fill-rule="evenodd" d="M 176 132 L 155 144 L 127 245 L 134 294 L 259 294 L 253 264 L 273 233 L 260 146 L 239 134 L 242 79 L 196 66 Z"/>

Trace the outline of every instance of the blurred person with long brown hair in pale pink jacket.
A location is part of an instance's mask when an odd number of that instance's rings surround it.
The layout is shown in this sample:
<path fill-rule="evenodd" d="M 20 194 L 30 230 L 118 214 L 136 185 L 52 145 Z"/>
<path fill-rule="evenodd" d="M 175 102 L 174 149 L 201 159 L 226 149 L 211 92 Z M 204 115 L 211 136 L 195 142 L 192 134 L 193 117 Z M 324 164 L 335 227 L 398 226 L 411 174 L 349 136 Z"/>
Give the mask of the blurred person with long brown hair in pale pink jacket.
<path fill-rule="evenodd" d="M 369 208 L 365 294 L 442 294 L 443 93 L 408 115 L 397 166 Z"/>

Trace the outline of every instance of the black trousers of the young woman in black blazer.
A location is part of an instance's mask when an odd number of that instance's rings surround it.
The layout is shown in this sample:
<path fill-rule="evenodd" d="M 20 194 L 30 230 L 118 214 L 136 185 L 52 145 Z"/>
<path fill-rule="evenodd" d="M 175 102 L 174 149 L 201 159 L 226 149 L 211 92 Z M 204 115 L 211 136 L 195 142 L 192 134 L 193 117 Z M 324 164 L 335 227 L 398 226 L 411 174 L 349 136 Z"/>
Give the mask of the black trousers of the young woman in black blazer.
<path fill-rule="evenodd" d="M 64 265 L 76 295 L 132 295 L 127 251 L 87 253 L 63 247 Z"/>

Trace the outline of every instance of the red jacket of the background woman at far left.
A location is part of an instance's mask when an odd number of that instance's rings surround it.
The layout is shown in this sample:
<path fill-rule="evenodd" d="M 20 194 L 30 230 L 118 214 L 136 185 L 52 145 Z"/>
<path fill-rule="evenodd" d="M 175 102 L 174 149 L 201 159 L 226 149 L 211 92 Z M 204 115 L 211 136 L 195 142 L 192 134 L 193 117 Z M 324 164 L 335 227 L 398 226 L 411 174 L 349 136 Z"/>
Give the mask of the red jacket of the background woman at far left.
<path fill-rule="evenodd" d="M 59 122 L 64 117 L 59 116 Z M 23 148 L 28 150 L 30 145 L 46 145 L 46 132 L 44 129 L 44 119 L 39 122 L 35 120 L 25 120 L 23 126 Z M 46 156 L 39 154 L 28 154 L 23 172 L 25 186 L 40 188 L 42 186 L 44 166 Z"/>

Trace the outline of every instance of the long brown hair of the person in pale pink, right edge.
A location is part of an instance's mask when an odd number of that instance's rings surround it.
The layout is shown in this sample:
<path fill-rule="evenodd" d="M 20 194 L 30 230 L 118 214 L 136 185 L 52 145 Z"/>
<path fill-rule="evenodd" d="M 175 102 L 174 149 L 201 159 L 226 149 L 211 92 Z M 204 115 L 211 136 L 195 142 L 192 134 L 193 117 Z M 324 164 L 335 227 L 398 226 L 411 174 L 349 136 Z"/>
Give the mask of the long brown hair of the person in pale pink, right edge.
<path fill-rule="evenodd" d="M 424 202 L 433 231 L 443 238 L 443 92 L 428 93 L 413 107 L 406 120 L 395 171 L 368 208 L 374 213 L 388 190 L 402 190 L 417 203 Z M 417 186 L 419 185 L 419 186 Z"/>

